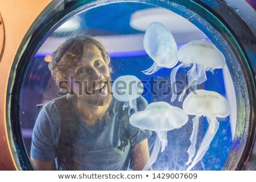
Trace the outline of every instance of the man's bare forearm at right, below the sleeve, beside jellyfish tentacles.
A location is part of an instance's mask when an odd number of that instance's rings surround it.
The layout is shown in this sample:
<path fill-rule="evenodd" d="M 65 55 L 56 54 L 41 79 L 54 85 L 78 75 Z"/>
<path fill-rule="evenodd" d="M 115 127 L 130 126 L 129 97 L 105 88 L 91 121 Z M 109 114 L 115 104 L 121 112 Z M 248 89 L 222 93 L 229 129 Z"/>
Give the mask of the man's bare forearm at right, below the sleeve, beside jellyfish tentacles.
<path fill-rule="evenodd" d="M 150 154 L 148 151 L 147 139 L 142 140 L 142 142 L 135 144 L 134 154 L 133 154 L 133 170 L 141 171 L 146 165 Z M 148 170 L 152 170 L 150 167 Z"/>

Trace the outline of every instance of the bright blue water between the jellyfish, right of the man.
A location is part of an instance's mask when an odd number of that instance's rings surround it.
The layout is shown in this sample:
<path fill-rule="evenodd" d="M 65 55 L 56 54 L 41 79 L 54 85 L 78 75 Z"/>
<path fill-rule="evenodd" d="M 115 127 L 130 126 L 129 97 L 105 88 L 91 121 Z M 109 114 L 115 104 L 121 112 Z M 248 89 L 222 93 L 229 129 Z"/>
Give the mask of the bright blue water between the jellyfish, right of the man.
<path fill-rule="evenodd" d="M 157 89 L 158 84 L 155 84 L 156 95 L 152 96 L 152 84 L 149 84 L 150 78 L 152 76 L 144 75 L 141 71 L 149 68 L 152 65 L 153 61 L 148 56 L 139 56 L 139 57 L 115 57 L 112 59 L 111 65 L 114 68 L 112 73 L 112 79 L 122 76 L 122 75 L 135 75 L 140 80 L 143 80 L 147 84 L 144 85 L 146 92 L 143 93 L 143 97 L 146 98 L 148 103 L 153 101 L 166 101 L 172 105 L 181 107 L 182 102 L 175 101 L 171 103 L 171 94 L 164 96 L 163 91 L 167 91 L 168 85 L 170 85 L 170 73 L 171 69 L 162 68 L 154 74 L 154 80 L 166 80 L 166 85 L 163 85 L 162 89 Z M 181 68 L 177 73 L 177 80 L 184 81 L 185 73 L 189 68 Z M 199 85 L 199 88 L 205 90 L 212 90 L 220 93 L 225 97 L 225 86 L 222 76 L 222 70 L 216 69 L 213 73 L 207 72 L 208 80 Z M 178 86 L 178 89 L 182 87 Z M 168 146 L 163 153 L 158 155 L 158 159 L 154 164 L 153 168 L 155 170 L 185 170 L 187 166 L 185 163 L 188 160 L 187 149 L 190 146 L 189 137 L 192 133 L 192 121 L 193 117 L 189 117 L 189 122 L 173 131 L 168 131 Z M 230 130 L 229 118 L 218 118 L 220 122 L 220 127 L 217 131 L 216 136 L 213 138 L 210 143 L 210 147 L 205 154 L 204 158 L 196 164 L 192 170 L 221 170 L 224 166 L 226 159 L 228 158 L 230 148 L 232 146 L 232 135 Z M 204 137 L 206 130 L 208 129 L 207 119 L 201 117 L 199 134 L 197 138 L 197 148 Z M 148 139 L 150 146 L 154 142 L 155 135 L 152 135 Z"/>

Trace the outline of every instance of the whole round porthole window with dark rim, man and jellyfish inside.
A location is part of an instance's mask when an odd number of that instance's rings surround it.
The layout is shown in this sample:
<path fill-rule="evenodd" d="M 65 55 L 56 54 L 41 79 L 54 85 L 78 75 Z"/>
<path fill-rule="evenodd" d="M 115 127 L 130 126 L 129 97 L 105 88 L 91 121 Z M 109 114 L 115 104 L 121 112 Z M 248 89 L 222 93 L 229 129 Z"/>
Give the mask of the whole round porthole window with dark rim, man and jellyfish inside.
<path fill-rule="evenodd" d="M 142 169 L 138 160 L 148 158 L 154 170 L 245 167 L 255 138 L 255 34 L 235 9 L 223 2 L 53 1 L 40 17 L 8 84 L 18 169 L 43 169 L 42 162 L 47 169 Z M 222 66 L 214 67 L 218 57 Z M 118 79 L 118 92 L 129 92 L 129 76 L 138 79 L 138 97 L 106 92 Z M 137 120 L 143 125 L 132 125 Z"/>

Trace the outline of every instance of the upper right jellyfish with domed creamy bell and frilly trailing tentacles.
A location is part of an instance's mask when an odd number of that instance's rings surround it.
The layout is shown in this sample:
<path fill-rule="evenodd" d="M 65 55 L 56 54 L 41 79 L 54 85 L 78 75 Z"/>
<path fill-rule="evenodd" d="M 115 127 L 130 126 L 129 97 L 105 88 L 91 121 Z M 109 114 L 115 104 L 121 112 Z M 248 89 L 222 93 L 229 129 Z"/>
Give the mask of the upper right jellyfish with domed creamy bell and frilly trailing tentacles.
<path fill-rule="evenodd" d="M 188 85 L 179 96 L 180 102 L 183 101 L 187 89 L 192 86 L 196 90 L 197 85 L 207 81 L 206 71 L 213 72 L 216 68 L 223 68 L 226 62 L 224 55 L 208 40 L 192 40 L 179 49 L 177 57 L 181 64 L 172 69 L 171 83 L 175 82 L 176 73 L 180 67 L 187 68 L 192 65 L 187 73 Z M 176 94 L 172 94 L 171 102 L 174 102 L 176 97 Z"/>

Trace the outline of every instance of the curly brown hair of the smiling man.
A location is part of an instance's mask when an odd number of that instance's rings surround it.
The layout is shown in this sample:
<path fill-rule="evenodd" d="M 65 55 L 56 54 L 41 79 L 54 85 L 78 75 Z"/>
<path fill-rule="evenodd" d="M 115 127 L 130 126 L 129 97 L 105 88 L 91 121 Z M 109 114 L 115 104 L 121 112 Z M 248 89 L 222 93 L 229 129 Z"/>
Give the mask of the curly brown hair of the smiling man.
<path fill-rule="evenodd" d="M 102 44 L 96 39 L 90 36 L 69 38 L 66 42 L 61 44 L 55 52 L 53 52 L 52 61 L 48 65 L 57 85 L 61 80 L 68 79 L 68 70 L 77 65 L 82 58 L 84 49 L 92 47 L 92 45 L 100 50 L 102 58 L 105 63 L 109 65 L 109 55 Z M 109 71 L 111 72 L 111 69 Z"/>

